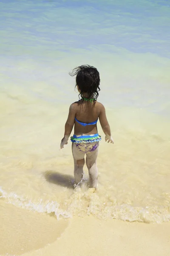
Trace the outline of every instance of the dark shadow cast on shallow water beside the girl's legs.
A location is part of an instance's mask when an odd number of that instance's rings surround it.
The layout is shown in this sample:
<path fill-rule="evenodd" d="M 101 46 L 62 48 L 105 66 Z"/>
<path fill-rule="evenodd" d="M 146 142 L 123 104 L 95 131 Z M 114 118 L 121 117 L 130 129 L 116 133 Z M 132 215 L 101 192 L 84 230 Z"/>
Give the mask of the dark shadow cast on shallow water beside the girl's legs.
<path fill-rule="evenodd" d="M 72 183 L 72 180 L 74 180 L 74 177 L 71 175 L 61 174 L 59 172 L 54 172 L 49 170 L 45 172 L 44 176 L 45 176 L 45 180 L 48 181 L 49 183 L 54 183 L 59 186 L 65 186 L 65 187 L 74 189 L 73 183 Z"/>

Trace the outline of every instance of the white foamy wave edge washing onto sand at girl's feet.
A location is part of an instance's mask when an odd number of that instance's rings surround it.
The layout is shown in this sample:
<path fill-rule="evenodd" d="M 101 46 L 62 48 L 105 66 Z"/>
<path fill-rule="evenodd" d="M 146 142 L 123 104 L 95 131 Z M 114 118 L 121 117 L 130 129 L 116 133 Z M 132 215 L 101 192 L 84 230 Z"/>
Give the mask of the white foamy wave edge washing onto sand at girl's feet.
<path fill-rule="evenodd" d="M 0 188 L 0 198 L 4 198 L 8 204 L 22 207 L 41 213 L 54 213 L 59 219 L 74 216 L 93 215 L 100 219 L 120 219 L 123 221 L 139 221 L 145 223 L 162 223 L 170 221 L 170 207 L 148 206 L 133 207 L 129 204 L 118 205 L 116 202 L 103 202 L 93 189 L 83 190 L 79 187 L 74 190 L 71 197 L 65 202 L 66 210 L 55 201 L 32 202 L 15 193 L 7 194 Z"/>

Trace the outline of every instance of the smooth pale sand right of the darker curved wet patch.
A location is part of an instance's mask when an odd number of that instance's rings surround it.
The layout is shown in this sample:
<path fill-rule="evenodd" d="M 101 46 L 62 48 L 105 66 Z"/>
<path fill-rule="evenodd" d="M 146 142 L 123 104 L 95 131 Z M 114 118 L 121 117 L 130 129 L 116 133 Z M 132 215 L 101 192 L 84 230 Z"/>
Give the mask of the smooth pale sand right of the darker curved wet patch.
<path fill-rule="evenodd" d="M 53 244 L 24 256 L 169 256 L 170 222 L 145 224 L 75 217 Z"/>

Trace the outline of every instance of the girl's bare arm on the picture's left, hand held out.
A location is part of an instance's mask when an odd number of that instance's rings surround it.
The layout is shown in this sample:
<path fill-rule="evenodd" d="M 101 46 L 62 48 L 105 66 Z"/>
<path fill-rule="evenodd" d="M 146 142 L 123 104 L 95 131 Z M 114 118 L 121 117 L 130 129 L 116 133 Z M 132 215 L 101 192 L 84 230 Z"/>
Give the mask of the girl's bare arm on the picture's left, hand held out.
<path fill-rule="evenodd" d="M 64 148 L 64 145 L 68 144 L 68 138 L 70 137 L 71 131 L 73 130 L 75 116 L 76 105 L 73 103 L 69 108 L 68 119 L 65 123 L 64 137 L 61 140 L 60 148 Z"/>

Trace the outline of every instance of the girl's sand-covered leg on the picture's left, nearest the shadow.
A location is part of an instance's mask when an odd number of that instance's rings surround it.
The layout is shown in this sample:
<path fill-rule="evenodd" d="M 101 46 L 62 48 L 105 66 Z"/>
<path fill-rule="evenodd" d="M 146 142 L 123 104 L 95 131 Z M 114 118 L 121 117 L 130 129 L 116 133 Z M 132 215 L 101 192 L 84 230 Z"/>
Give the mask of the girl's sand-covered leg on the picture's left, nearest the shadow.
<path fill-rule="evenodd" d="M 85 164 L 85 153 L 79 151 L 76 143 L 72 143 L 72 153 L 74 158 L 74 179 L 76 185 L 82 180 L 83 166 Z"/>

